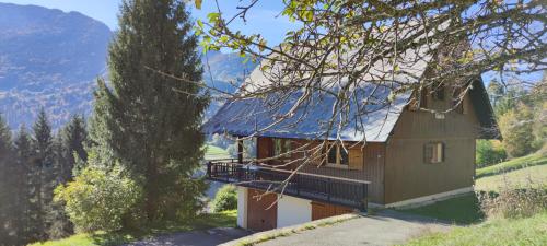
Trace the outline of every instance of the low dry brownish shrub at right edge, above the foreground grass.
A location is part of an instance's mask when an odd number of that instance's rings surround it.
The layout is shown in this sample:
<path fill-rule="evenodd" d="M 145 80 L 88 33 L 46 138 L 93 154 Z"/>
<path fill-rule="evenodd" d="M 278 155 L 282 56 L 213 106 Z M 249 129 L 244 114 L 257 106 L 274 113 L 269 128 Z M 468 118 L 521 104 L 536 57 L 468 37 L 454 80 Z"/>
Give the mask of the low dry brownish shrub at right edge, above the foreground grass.
<path fill-rule="evenodd" d="M 499 194 L 479 194 L 480 208 L 489 218 L 527 218 L 547 211 L 547 187 L 529 184 L 514 188 L 505 183 Z"/>

